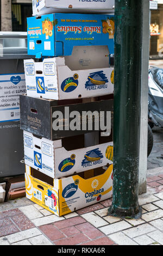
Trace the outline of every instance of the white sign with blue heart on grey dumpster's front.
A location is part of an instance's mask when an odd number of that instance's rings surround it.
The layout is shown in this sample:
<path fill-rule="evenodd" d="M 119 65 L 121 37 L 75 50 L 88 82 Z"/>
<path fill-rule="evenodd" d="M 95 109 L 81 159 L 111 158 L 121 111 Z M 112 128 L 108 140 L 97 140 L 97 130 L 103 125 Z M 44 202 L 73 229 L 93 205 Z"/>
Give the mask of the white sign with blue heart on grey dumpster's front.
<path fill-rule="evenodd" d="M 24 74 L 0 75 L 0 123 L 20 120 L 19 95 L 26 93 Z"/>

